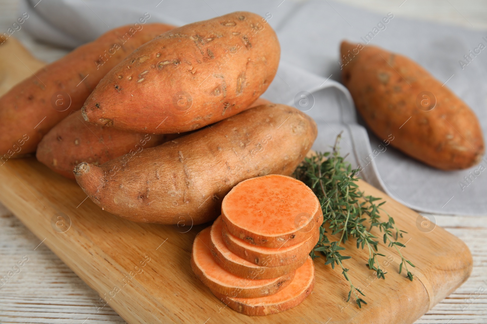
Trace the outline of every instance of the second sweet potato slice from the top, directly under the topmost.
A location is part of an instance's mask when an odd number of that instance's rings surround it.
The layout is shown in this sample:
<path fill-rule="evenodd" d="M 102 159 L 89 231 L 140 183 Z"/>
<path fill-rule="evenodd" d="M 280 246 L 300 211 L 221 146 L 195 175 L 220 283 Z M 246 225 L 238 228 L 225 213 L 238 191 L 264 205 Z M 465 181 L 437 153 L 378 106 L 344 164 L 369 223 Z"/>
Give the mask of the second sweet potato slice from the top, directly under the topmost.
<path fill-rule="evenodd" d="M 309 239 L 281 248 L 259 246 L 239 239 L 228 232 L 225 223 L 222 237 L 228 250 L 237 256 L 262 267 L 278 267 L 297 262 L 311 252 L 319 239 L 318 226 L 312 232 L 313 235 Z"/>

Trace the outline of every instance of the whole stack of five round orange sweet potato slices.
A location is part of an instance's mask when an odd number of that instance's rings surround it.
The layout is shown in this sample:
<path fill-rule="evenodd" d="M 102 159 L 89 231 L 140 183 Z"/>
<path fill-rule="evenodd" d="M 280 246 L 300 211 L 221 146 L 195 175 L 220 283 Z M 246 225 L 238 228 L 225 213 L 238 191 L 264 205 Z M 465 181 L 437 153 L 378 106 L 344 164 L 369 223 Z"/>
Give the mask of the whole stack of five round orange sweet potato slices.
<path fill-rule="evenodd" d="M 222 215 L 196 236 L 191 266 L 240 313 L 284 311 L 313 290 L 309 253 L 322 222 L 318 198 L 299 180 L 277 174 L 245 180 L 225 196 Z"/>

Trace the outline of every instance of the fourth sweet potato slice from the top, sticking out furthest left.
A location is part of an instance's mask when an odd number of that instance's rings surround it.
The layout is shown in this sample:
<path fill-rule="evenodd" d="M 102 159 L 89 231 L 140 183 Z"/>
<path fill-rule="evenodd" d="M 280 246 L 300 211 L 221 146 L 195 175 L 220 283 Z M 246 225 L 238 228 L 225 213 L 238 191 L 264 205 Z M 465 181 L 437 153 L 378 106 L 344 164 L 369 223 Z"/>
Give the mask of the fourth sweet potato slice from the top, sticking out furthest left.
<path fill-rule="evenodd" d="M 201 231 L 193 242 L 191 268 L 208 288 L 232 297 L 255 298 L 273 295 L 294 277 L 294 272 L 273 279 L 253 280 L 238 277 L 220 267 L 213 259 L 209 246 L 211 226 Z"/>

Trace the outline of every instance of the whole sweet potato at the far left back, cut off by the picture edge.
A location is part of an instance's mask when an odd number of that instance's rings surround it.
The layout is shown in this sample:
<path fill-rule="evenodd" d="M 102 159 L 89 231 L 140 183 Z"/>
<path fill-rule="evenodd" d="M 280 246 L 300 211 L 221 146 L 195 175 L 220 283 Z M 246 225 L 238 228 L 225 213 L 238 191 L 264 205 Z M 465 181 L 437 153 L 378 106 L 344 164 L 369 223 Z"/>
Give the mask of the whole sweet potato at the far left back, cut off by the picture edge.
<path fill-rule="evenodd" d="M 3 95 L 0 155 L 12 157 L 16 151 L 19 154 L 36 151 L 42 136 L 72 110 L 79 109 L 108 71 L 140 45 L 173 28 L 159 23 L 140 26 L 138 31 L 127 25 L 101 35 L 39 69 Z M 19 151 L 22 138 L 28 139 Z"/>

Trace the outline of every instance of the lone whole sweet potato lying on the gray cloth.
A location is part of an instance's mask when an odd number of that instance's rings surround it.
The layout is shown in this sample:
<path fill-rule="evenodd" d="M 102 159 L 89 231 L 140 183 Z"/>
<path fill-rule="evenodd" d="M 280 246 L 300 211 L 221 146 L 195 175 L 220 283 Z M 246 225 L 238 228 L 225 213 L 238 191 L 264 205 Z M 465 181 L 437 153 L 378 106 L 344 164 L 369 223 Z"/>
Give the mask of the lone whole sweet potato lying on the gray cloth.
<path fill-rule="evenodd" d="M 411 59 L 374 46 L 358 50 L 356 44 L 342 42 L 341 54 L 343 83 L 380 139 L 393 136 L 393 147 L 441 170 L 466 169 L 480 162 L 484 139 L 479 121 L 447 85 Z M 427 99 L 420 95 L 423 91 L 436 97 L 429 111 L 425 110 L 431 104 L 420 109 L 421 103 L 416 103 L 418 96 L 419 102 Z"/>

